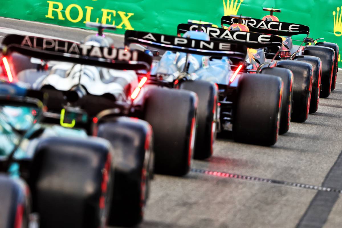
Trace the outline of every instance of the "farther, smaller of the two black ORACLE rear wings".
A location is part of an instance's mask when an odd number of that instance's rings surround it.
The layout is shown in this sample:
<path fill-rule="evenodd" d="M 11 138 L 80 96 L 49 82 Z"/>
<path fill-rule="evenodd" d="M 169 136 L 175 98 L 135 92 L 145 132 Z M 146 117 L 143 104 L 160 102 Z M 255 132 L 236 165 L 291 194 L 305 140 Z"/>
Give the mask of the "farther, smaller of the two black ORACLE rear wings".
<path fill-rule="evenodd" d="M 221 18 L 221 26 L 223 28 L 224 25 L 232 25 L 238 23 L 238 19 L 233 18 L 231 16 L 223 16 Z M 252 18 L 251 20 L 242 19 L 242 24 L 249 27 L 251 32 L 259 32 L 266 33 L 272 35 L 298 35 L 298 34 L 306 34 L 308 35 L 310 32 L 310 28 L 305 25 L 300 24 L 292 24 L 287 22 L 273 22 L 273 21 L 264 21 L 260 19 Z"/>

